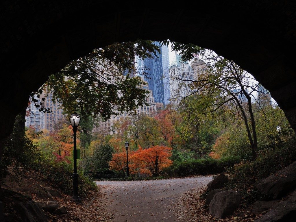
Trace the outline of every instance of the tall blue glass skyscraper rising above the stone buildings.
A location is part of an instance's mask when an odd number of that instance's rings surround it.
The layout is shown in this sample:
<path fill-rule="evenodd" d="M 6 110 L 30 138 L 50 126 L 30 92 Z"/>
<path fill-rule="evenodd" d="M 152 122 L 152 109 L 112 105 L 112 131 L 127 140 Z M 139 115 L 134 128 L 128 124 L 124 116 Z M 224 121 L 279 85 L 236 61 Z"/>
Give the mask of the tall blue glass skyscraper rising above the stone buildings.
<path fill-rule="evenodd" d="M 147 58 L 141 62 L 141 66 L 147 67 L 148 77 L 145 81 L 148 82 L 149 89 L 152 90 L 155 102 L 162 102 L 164 105 L 169 103 L 170 88 L 169 79 L 163 78 L 168 73 L 170 60 L 168 46 L 161 46 L 160 42 L 154 42 L 155 45 L 160 46 L 160 53 L 157 52 L 154 58 Z"/>

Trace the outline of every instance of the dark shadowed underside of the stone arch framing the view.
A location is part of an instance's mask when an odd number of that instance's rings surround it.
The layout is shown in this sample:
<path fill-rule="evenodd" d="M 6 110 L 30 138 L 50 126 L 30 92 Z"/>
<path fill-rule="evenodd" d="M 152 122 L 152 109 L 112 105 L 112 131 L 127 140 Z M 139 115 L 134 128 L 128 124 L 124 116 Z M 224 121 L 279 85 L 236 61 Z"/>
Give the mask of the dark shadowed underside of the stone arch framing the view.
<path fill-rule="evenodd" d="M 80 1 L 1 1 L 0 139 L 52 73 L 94 48 L 170 38 L 212 49 L 271 92 L 296 129 L 296 2 L 192 1 L 161 6 Z M 151 8 L 147 8 L 151 6 Z M 161 8 L 160 8 L 161 7 Z"/>

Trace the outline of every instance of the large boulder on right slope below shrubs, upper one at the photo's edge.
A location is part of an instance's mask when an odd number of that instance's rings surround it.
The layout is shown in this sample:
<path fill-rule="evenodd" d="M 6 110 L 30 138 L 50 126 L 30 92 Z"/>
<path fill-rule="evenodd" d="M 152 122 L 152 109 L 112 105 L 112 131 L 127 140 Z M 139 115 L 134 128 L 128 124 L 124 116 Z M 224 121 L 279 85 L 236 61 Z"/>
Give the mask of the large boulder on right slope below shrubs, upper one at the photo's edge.
<path fill-rule="evenodd" d="M 255 182 L 255 187 L 263 194 L 277 199 L 296 188 L 296 161 L 267 178 Z"/>

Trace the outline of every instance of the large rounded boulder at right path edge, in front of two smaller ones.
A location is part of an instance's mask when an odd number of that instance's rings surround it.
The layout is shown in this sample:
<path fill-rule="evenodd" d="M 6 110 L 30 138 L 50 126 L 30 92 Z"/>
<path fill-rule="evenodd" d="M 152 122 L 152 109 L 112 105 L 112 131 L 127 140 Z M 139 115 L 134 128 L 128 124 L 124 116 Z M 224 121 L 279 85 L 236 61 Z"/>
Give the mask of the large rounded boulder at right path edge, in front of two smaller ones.
<path fill-rule="evenodd" d="M 214 217 L 225 218 L 239 207 L 241 199 L 242 196 L 234 190 L 218 192 L 210 202 L 209 212 Z"/>

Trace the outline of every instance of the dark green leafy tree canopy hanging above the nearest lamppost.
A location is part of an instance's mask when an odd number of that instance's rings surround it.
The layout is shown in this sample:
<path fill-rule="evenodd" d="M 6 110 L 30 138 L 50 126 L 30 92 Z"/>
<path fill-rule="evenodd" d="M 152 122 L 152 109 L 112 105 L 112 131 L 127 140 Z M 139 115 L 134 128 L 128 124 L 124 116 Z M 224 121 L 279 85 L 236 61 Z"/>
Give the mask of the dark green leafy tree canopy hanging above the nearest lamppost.
<path fill-rule="evenodd" d="M 83 116 L 100 114 L 102 118 L 110 118 L 115 114 L 114 107 L 123 112 L 146 105 L 148 91 L 139 87 L 141 79 L 128 77 L 136 72 L 135 56 L 142 59 L 154 57 L 157 51 L 159 47 L 146 40 L 94 49 L 51 75 L 41 89 L 46 93 L 52 92 L 53 100 L 60 102 L 67 114 L 79 111 Z M 124 72 L 128 73 L 127 77 Z M 40 91 L 37 94 L 41 98 Z M 39 108 L 50 112 L 43 102 Z"/>

